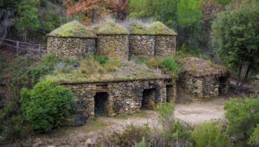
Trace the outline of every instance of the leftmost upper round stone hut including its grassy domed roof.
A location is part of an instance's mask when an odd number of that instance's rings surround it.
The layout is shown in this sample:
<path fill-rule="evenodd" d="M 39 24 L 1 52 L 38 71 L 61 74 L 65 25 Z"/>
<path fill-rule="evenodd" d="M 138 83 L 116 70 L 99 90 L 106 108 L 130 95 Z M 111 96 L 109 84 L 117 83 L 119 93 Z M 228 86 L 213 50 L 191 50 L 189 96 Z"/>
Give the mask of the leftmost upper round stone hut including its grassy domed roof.
<path fill-rule="evenodd" d="M 48 33 L 48 53 L 65 58 L 83 59 L 94 53 L 97 36 L 78 22 L 69 22 Z"/>

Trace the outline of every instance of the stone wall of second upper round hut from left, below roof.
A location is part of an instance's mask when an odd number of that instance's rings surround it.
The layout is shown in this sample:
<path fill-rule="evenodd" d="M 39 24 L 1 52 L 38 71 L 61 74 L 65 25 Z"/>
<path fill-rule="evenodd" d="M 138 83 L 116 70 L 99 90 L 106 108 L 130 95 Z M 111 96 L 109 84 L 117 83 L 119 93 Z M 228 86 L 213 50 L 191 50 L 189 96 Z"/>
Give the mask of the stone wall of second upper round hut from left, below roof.
<path fill-rule="evenodd" d="M 110 59 L 129 59 L 128 35 L 97 35 L 97 54 L 106 55 Z"/>

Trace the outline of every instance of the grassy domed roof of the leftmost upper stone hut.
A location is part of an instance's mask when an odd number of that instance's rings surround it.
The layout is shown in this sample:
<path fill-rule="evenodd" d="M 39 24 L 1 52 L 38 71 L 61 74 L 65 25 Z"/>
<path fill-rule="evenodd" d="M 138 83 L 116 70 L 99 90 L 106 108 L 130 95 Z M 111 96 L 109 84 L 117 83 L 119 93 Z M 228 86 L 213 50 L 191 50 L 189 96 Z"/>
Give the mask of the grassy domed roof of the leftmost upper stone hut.
<path fill-rule="evenodd" d="M 55 29 L 48 36 L 57 37 L 78 37 L 78 38 L 96 38 L 92 30 L 87 29 L 83 24 L 78 22 L 69 22 Z"/>

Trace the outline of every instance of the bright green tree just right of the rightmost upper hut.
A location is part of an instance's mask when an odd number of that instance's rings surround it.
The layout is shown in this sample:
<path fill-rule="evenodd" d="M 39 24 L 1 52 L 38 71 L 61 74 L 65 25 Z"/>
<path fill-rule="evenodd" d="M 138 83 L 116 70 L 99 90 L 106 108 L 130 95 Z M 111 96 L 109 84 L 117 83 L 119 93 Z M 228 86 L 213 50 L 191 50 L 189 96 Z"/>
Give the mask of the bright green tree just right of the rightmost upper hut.
<path fill-rule="evenodd" d="M 181 0 L 177 4 L 176 16 L 179 45 L 186 43 L 188 48 L 196 49 L 202 22 L 202 10 L 200 10 L 198 1 Z"/>

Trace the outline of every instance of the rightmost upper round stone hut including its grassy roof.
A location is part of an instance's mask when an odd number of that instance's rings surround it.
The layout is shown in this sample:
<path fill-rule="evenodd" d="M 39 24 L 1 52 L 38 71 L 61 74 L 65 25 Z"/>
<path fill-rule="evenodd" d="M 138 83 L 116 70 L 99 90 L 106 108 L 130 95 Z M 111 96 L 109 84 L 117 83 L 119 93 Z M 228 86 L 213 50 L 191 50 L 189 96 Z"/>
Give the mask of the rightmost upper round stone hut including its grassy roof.
<path fill-rule="evenodd" d="M 162 22 L 154 22 L 151 31 L 155 33 L 155 56 L 174 56 L 177 34 Z"/>

